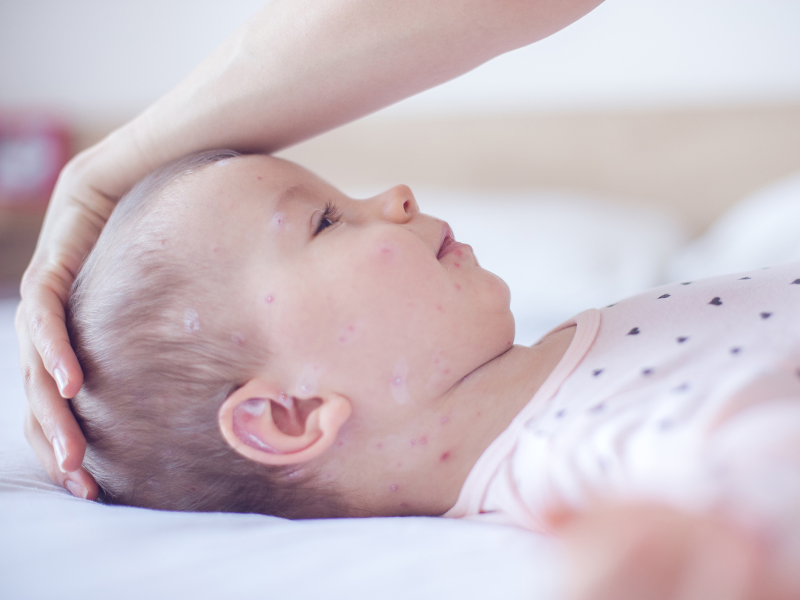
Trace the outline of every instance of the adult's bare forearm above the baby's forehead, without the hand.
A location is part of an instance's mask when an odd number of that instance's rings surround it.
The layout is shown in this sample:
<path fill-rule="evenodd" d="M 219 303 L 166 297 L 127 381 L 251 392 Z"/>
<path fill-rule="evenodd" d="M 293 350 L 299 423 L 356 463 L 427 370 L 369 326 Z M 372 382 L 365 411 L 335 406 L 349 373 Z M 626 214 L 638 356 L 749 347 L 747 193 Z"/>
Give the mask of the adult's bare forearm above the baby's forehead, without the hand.
<path fill-rule="evenodd" d="M 279 150 L 544 38 L 600 1 L 275 0 L 91 162 L 106 163 L 106 179 L 109 162 L 125 165 L 102 184 L 114 196 L 193 150 Z"/>

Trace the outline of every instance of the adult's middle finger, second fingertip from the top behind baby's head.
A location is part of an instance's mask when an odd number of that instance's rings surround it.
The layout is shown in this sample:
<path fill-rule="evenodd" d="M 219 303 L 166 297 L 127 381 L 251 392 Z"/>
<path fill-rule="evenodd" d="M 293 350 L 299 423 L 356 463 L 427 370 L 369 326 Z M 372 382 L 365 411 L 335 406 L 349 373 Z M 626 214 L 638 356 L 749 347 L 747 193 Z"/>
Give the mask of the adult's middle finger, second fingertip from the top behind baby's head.
<path fill-rule="evenodd" d="M 86 438 L 83 437 L 81 428 L 75 421 L 69 402 L 58 393 L 54 379 L 45 369 L 42 358 L 30 338 L 26 310 L 22 306 L 24 302 L 17 310 L 17 333 L 20 344 L 19 361 L 22 369 L 22 382 L 33 418 L 32 422 L 26 423 L 26 434 L 32 433 L 29 429 L 35 429 L 33 427 L 33 422 L 35 422 L 42 430 L 42 436 L 51 446 L 50 452 L 54 455 L 58 470 L 62 473 L 72 472 L 81 466 L 83 455 L 86 452 Z M 36 439 L 35 434 L 33 437 Z M 49 454 L 40 454 L 40 451 L 37 451 L 37 456 L 47 467 L 46 461 Z M 50 473 L 51 477 L 53 475 L 54 472 Z M 54 480 L 57 478 L 54 477 Z"/>

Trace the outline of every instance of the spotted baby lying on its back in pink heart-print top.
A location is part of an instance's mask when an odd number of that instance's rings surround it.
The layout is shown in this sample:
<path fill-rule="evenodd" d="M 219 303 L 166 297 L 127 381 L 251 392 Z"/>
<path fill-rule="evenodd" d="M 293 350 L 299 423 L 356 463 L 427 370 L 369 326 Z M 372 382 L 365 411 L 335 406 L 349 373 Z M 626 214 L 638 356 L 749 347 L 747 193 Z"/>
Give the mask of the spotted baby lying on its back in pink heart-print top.
<path fill-rule="evenodd" d="M 650 290 L 532 347 L 509 301 L 406 186 L 354 200 L 278 158 L 184 158 L 122 199 L 74 284 L 85 466 L 108 502 L 290 518 L 547 532 L 660 502 L 790 553 L 800 264 Z"/>

